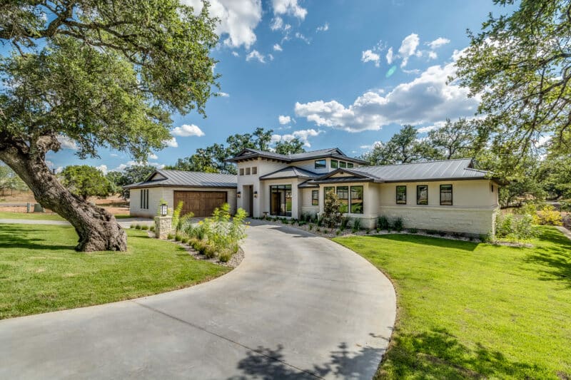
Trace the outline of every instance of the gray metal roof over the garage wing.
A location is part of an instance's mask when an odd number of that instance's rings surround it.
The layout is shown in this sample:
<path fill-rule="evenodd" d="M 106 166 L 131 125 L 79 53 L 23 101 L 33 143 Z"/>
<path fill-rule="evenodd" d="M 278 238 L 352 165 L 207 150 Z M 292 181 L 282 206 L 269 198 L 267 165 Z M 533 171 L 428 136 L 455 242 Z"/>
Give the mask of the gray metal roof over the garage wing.
<path fill-rule="evenodd" d="M 189 187 L 189 188 L 236 188 L 238 178 L 233 174 L 186 172 L 181 170 L 156 170 L 140 183 L 123 186 L 133 188 Z"/>

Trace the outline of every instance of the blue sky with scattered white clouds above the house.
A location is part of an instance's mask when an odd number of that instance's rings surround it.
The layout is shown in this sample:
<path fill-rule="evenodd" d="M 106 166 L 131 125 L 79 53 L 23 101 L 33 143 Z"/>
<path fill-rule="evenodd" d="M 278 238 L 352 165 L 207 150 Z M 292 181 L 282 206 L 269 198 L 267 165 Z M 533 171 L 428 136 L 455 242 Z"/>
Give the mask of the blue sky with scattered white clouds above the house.
<path fill-rule="evenodd" d="M 211 3 L 222 21 L 213 56 L 223 96 L 208 101 L 208 118 L 173 115 L 176 146 L 149 158 L 158 167 L 256 127 L 273 129 L 274 140 L 299 137 L 306 150 L 357 156 L 403 123 L 425 133 L 447 117 L 470 117 L 477 99 L 446 79 L 468 46 L 466 29 L 479 31 L 490 11 L 506 12 L 491 0 Z M 48 156 L 54 168 L 82 162 L 72 143 L 64 146 Z M 84 162 L 104 170 L 132 164 L 125 153 L 100 153 Z"/>

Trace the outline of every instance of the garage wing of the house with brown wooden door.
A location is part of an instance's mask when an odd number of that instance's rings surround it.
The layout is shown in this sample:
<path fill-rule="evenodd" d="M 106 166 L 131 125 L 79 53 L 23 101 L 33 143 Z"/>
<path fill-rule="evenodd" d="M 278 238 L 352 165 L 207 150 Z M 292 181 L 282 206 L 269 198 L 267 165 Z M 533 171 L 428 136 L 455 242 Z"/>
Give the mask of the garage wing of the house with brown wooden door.
<path fill-rule="evenodd" d="M 236 181 L 236 175 L 230 174 L 156 170 L 143 182 L 124 188 L 131 192 L 129 212 L 132 216 L 153 217 L 164 200 L 171 208 L 182 201 L 182 215 L 193 212 L 196 217 L 206 217 L 225 202 L 231 212 L 235 212 Z"/>

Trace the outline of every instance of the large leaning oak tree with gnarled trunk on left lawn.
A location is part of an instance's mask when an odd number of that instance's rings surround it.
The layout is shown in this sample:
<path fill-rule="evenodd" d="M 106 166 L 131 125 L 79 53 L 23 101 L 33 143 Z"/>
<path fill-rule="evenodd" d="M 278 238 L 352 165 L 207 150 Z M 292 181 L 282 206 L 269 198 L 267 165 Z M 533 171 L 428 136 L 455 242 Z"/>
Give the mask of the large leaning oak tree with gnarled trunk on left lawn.
<path fill-rule="evenodd" d="M 69 220 L 78 250 L 126 250 L 115 218 L 59 183 L 46 153 L 65 136 L 78 155 L 106 147 L 146 160 L 170 114 L 204 113 L 218 36 L 208 6 L 177 0 L 8 0 L 0 5 L 0 160 L 36 200 Z"/>

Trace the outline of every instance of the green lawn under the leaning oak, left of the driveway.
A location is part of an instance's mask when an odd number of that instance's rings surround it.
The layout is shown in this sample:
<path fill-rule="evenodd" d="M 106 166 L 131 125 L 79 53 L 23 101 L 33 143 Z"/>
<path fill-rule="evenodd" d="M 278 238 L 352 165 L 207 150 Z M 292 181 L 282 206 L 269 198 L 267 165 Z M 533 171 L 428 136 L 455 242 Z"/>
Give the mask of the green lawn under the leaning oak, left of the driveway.
<path fill-rule="evenodd" d="M 75 252 L 72 227 L 0 224 L 0 319 L 143 297 L 228 272 L 128 230 L 128 252 Z"/>

